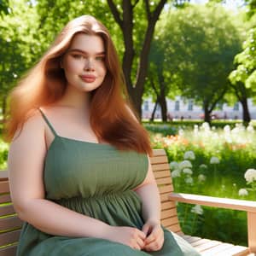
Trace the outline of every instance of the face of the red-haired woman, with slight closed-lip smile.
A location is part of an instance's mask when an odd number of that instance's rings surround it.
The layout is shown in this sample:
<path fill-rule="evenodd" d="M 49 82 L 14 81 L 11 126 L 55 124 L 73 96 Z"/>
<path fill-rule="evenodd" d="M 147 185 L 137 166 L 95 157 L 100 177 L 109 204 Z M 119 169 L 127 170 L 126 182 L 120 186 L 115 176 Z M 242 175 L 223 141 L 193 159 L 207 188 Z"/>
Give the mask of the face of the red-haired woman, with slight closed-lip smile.
<path fill-rule="evenodd" d="M 105 49 L 99 36 L 79 33 L 61 61 L 67 79 L 67 86 L 91 91 L 98 88 L 107 73 Z"/>

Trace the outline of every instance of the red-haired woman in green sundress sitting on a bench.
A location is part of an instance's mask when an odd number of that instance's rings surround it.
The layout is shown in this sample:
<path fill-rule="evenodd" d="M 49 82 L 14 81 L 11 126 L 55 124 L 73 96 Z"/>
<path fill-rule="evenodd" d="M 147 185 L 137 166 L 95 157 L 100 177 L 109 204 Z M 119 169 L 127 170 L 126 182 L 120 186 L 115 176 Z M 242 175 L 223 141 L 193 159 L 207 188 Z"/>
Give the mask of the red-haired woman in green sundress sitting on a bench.
<path fill-rule="evenodd" d="M 11 93 L 17 255 L 198 255 L 160 226 L 148 134 L 122 84 L 107 29 L 84 15 Z"/>

